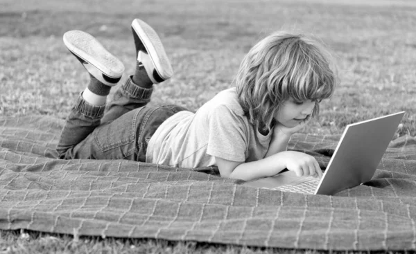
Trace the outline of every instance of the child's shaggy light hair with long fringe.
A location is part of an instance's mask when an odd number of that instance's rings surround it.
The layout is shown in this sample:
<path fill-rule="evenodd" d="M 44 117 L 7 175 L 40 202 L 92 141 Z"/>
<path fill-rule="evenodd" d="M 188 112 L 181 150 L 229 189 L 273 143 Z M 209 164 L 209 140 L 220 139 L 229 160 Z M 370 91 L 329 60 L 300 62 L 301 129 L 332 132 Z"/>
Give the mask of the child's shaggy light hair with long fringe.
<path fill-rule="evenodd" d="M 332 57 L 318 41 L 284 31 L 254 45 L 234 80 L 250 123 L 266 131 L 282 103 L 329 98 L 338 80 Z M 312 116 L 319 113 L 315 104 Z"/>

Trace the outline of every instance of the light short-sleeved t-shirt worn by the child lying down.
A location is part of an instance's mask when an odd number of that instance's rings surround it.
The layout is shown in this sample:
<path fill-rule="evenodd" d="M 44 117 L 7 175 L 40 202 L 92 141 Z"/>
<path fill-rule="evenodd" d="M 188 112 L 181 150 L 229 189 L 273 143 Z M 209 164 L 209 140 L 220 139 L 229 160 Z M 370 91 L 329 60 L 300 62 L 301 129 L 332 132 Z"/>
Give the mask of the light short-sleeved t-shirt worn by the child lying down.
<path fill-rule="evenodd" d="M 160 125 L 148 143 L 146 162 L 174 167 L 216 165 L 215 157 L 250 162 L 264 158 L 272 131 L 250 124 L 236 89 L 218 93 L 196 113 L 180 111 Z"/>

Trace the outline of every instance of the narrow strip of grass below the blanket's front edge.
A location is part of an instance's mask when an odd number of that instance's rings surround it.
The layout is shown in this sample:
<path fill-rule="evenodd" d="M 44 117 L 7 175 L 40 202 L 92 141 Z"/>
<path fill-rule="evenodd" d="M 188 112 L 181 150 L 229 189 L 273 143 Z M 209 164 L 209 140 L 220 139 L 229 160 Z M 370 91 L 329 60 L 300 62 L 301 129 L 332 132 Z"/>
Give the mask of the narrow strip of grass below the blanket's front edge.
<path fill-rule="evenodd" d="M 168 242 L 154 239 L 101 239 L 69 235 L 50 235 L 37 232 L 4 232 L 0 238 L 0 253 L 270 253 L 261 248 L 203 244 L 196 242 Z M 279 251 L 279 250 L 275 250 Z M 281 251 L 281 250 L 280 250 Z M 302 251 L 287 251 L 304 253 Z M 277 252 L 275 252 L 277 253 Z"/>

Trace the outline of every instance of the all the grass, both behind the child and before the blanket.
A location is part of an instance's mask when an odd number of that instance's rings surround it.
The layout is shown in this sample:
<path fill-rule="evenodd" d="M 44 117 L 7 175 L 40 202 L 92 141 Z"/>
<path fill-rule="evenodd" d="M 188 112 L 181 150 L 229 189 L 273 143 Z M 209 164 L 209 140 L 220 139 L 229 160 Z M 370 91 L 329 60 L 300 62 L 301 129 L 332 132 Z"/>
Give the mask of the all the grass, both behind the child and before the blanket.
<path fill-rule="evenodd" d="M 191 110 L 230 87 L 243 55 L 279 30 L 311 33 L 329 46 L 340 86 L 305 132 L 340 134 L 358 120 L 406 111 L 396 136 L 416 135 L 416 3 L 329 0 L 2 0 L 0 115 L 65 118 L 88 75 L 62 43 L 85 30 L 135 67 L 130 23 L 157 30 L 175 75 L 153 102 Z M 123 78 L 125 80 L 125 78 Z M 123 82 L 123 80 L 121 82 Z M 0 253 L 268 253 L 283 250 L 149 240 L 96 239 L 0 231 Z M 135 246 L 134 248 L 132 246 Z M 286 250 L 288 253 L 304 252 Z M 311 251 L 315 252 L 315 251 Z"/>

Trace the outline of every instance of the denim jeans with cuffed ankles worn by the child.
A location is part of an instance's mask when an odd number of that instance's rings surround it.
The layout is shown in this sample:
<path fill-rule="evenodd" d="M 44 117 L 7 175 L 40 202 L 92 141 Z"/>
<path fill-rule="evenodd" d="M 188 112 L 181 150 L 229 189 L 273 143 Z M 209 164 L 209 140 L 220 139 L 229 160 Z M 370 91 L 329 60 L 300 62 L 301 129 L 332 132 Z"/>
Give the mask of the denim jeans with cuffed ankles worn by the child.
<path fill-rule="evenodd" d="M 60 158 L 128 159 L 146 161 L 150 138 L 164 120 L 187 110 L 176 105 L 149 106 L 153 88 L 130 77 L 114 93 L 107 109 L 88 104 L 80 94 L 62 129 Z"/>

